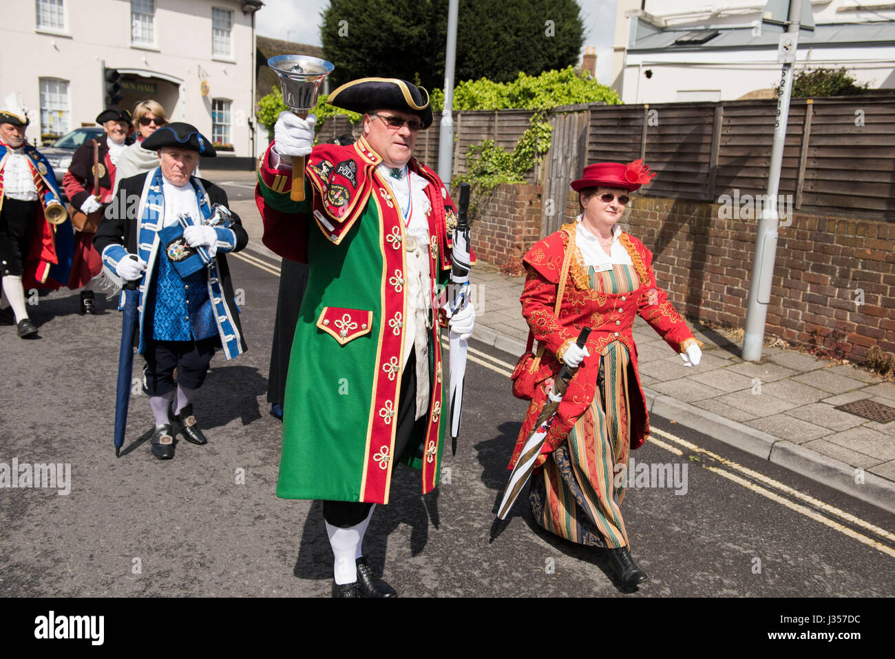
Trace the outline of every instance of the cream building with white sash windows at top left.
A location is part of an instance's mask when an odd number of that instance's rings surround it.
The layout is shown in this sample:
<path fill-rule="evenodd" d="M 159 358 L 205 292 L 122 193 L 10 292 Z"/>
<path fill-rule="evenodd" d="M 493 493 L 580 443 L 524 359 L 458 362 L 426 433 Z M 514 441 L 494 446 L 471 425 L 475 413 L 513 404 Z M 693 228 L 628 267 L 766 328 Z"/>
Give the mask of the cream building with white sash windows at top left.
<path fill-rule="evenodd" d="M 0 95 L 21 93 L 41 144 L 107 107 L 108 71 L 132 111 L 144 99 L 223 154 L 253 156 L 258 0 L 30 0 L 0 22 Z M 104 69 L 105 66 L 105 69 Z"/>

